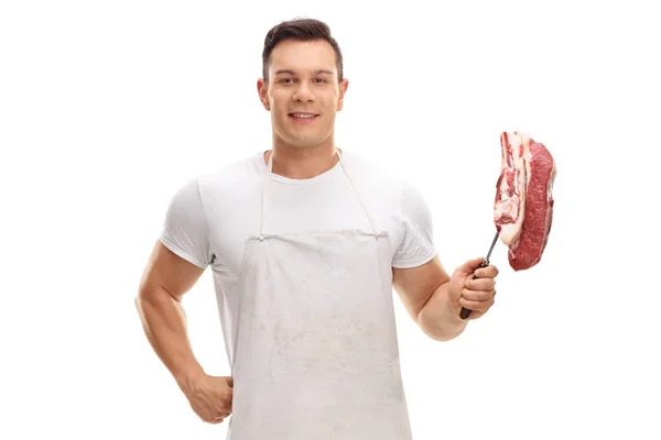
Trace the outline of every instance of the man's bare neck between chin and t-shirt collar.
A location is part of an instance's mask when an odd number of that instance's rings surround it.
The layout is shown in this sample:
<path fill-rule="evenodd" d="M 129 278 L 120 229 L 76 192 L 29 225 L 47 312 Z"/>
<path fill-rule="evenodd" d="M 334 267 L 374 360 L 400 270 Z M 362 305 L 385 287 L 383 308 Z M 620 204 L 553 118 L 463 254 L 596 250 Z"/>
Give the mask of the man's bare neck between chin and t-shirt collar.
<path fill-rule="evenodd" d="M 264 155 L 267 164 L 271 154 L 273 155 L 273 174 L 293 179 L 316 177 L 333 168 L 338 161 L 333 142 L 305 148 L 274 142 L 273 150 Z"/>

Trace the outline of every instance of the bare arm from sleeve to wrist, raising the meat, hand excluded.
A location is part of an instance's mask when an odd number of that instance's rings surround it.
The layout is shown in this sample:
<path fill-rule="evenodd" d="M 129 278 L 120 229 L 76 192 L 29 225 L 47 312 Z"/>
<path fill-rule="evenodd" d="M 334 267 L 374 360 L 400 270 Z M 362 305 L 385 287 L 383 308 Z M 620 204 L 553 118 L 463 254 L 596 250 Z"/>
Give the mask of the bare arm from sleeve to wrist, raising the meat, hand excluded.
<path fill-rule="evenodd" d="M 430 338 L 447 341 L 466 328 L 453 311 L 448 295 L 449 275 L 438 256 L 412 268 L 392 270 L 392 284 L 411 318 Z"/>

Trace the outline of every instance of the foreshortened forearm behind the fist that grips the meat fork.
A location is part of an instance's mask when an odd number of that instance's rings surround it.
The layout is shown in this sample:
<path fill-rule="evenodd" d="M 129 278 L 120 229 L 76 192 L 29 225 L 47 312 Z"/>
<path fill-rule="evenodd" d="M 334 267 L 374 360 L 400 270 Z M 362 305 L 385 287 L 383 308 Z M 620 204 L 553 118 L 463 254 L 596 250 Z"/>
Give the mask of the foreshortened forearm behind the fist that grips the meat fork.
<path fill-rule="evenodd" d="M 447 295 L 449 282 L 443 283 L 422 308 L 418 317 L 420 328 L 432 339 L 448 341 L 462 334 L 465 320 L 453 312 Z"/>

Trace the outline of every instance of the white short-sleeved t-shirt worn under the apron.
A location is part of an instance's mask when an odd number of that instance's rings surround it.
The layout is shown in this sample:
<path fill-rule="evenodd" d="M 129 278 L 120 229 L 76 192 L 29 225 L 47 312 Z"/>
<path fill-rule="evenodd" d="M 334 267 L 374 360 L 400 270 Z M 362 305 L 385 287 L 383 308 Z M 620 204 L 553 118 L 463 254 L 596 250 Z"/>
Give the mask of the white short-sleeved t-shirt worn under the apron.
<path fill-rule="evenodd" d="M 344 150 L 343 162 L 377 229 L 390 234 L 392 266 L 415 267 L 432 260 L 436 254 L 432 218 L 420 191 Z M 160 238 L 178 256 L 212 267 L 230 366 L 241 261 L 248 237 L 260 233 L 266 169 L 260 152 L 187 182 L 170 202 Z M 264 212 L 264 233 L 371 231 L 339 162 L 308 179 L 272 175 Z"/>

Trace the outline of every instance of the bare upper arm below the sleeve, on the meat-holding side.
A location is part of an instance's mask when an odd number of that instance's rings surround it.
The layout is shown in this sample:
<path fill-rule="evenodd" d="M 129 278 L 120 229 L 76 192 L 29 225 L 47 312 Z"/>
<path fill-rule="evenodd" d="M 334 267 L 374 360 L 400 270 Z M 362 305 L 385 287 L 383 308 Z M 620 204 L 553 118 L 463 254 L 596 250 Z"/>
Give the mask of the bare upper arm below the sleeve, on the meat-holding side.
<path fill-rule="evenodd" d="M 449 279 L 438 256 L 418 267 L 392 268 L 392 287 L 414 320 L 436 288 Z"/>

